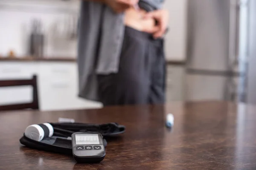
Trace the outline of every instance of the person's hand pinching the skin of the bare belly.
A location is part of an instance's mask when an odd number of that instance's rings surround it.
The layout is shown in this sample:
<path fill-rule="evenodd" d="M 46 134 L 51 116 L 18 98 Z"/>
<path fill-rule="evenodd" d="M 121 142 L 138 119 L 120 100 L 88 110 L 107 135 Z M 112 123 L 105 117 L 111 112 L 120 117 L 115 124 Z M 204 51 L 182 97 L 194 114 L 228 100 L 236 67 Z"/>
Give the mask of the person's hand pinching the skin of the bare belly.
<path fill-rule="evenodd" d="M 148 12 L 147 14 L 145 14 L 144 17 L 154 18 L 157 21 L 156 26 L 144 31 L 152 33 L 155 39 L 163 37 L 163 34 L 165 34 L 166 32 L 166 28 L 169 20 L 169 12 L 167 10 L 156 10 L 156 11 Z"/>

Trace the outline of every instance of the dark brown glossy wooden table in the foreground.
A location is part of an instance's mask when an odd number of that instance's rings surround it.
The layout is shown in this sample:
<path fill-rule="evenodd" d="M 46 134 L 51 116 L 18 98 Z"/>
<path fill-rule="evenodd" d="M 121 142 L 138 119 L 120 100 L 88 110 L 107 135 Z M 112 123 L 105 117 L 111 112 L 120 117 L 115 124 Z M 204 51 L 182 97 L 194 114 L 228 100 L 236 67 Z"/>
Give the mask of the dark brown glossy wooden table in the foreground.
<path fill-rule="evenodd" d="M 165 127 L 166 113 L 175 126 Z M 118 122 L 127 131 L 108 140 L 99 164 L 32 150 L 19 143 L 26 126 L 57 122 Z M 109 107 L 86 111 L 0 112 L 2 170 L 256 170 L 256 107 L 228 102 L 188 102 Z"/>

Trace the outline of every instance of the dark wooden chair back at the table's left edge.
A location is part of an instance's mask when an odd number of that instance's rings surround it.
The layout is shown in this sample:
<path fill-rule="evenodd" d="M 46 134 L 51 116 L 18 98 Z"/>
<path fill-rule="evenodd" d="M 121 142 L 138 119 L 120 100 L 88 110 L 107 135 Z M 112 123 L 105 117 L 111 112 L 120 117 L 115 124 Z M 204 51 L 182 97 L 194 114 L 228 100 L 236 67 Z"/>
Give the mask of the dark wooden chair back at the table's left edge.
<path fill-rule="evenodd" d="M 20 109 L 39 109 L 38 105 L 38 92 L 37 92 L 37 77 L 34 75 L 32 79 L 23 80 L 0 80 L 0 87 L 22 86 L 32 85 L 33 87 L 33 102 L 32 103 L 20 103 L 12 105 L 0 105 L 0 111 L 7 110 L 20 110 Z"/>

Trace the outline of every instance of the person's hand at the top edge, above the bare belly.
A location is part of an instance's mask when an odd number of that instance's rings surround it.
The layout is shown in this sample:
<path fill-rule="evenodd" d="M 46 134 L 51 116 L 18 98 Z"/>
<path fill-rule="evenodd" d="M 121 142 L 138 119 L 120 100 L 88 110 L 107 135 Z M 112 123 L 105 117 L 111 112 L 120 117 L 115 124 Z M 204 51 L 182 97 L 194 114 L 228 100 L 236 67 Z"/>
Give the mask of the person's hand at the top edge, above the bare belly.
<path fill-rule="evenodd" d="M 139 0 L 105 0 L 105 3 L 116 13 L 121 13 L 127 8 L 134 6 Z"/>

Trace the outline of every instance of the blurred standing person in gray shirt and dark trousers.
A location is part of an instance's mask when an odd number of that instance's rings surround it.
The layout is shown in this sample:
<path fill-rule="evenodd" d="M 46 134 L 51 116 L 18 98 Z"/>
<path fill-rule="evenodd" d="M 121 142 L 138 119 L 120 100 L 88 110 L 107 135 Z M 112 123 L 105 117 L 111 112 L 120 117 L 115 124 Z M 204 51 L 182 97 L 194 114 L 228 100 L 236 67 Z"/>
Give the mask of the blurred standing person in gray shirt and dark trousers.
<path fill-rule="evenodd" d="M 103 105 L 165 102 L 163 0 L 83 0 L 79 96 Z M 137 8 L 137 5 L 140 8 Z"/>

